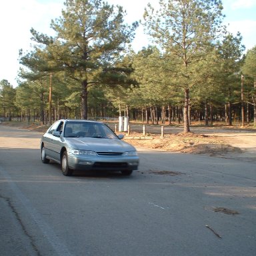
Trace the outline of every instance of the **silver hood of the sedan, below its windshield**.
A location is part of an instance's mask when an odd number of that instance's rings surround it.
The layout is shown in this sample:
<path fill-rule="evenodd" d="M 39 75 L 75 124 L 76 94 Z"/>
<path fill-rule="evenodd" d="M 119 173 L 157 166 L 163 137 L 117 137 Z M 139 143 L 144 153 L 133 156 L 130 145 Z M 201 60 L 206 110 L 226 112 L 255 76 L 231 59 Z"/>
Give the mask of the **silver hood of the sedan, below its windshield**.
<path fill-rule="evenodd" d="M 95 152 L 125 152 L 135 151 L 135 147 L 121 141 L 120 139 L 103 139 L 103 138 L 65 138 L 66 143 L 73 149 L 85 149 Z"/>

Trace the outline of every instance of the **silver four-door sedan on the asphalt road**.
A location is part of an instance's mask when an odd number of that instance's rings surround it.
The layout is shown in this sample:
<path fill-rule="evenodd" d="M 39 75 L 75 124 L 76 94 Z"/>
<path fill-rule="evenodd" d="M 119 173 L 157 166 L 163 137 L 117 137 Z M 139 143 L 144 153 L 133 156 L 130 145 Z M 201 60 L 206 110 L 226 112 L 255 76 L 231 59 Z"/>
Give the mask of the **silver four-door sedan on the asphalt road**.
<path fill-rule="evenodd" d="M 121 141 L 107 125 L 88 120 L 59 120 L 41 138 L 41 160 L 61 164 L 63 175 L 73 170 L 121 171 L 131 175 L 139 165 L 135 147 Z"/>

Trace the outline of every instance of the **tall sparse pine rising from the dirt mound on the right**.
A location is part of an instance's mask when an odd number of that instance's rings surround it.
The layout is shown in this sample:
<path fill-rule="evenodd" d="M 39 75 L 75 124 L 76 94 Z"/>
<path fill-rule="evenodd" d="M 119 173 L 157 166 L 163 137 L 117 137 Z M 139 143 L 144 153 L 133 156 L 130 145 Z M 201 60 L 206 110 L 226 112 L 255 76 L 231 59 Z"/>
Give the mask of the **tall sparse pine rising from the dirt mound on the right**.
<path fill-rule="evenodd" d="M 184 132 L 189 132 L 189 90 L 197 74 L 193 63 L 204 59 L 221 27 L 220 0 L 160 0 L 155 11 L 149 4 L 145 29 L 161 50 L 173 56 L 177 86 L 184 93 Z"/>

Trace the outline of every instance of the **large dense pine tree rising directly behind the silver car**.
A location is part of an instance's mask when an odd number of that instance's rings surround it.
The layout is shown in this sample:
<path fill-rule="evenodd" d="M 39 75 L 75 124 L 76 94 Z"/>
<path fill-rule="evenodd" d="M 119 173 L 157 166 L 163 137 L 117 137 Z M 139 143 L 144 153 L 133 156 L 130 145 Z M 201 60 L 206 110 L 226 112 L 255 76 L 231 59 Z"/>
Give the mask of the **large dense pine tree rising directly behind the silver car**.
<path fill-rule="evenodd" d="M 101 0 L 67 0 L 65 7 L 62 17 L 51 23 L 57 33 L 52 42 L 36 31 L 32 33 L 35 41 L 47 45 L 53 66 L 80 84 L 81 112 L 87 119 L 89 88 L 125 81 L 127 70 L 115 65 L 138 24 L 125 25 L 123 8 Z"/>

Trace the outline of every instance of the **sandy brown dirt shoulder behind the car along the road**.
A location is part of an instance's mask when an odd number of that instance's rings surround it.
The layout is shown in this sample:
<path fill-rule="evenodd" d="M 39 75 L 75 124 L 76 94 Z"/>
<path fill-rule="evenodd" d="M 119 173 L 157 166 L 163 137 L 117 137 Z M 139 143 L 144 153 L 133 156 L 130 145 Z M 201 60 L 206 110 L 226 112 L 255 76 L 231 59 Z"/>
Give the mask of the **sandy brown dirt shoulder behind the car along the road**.
<path fill-rule="evenodd" d="M 44 133 L 46 126 L 24 125 L 22 123 L 2 123 L 2 125 L 16 126 Z M 219 128 L 218 128 L 219 129 Z M 225 127 L 227 130 L 227 127 Z M 141 133 L 124 133 L 124 140 L 139 150 L 155 149 L 161 151 L 205 154 L 213 157 L 241 159 L 256 163 L 256 130 L 229 129 L 221 133 L 177 133 L 145 136 Z"/>

